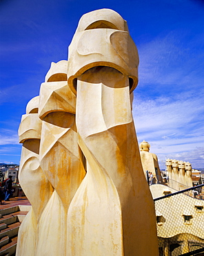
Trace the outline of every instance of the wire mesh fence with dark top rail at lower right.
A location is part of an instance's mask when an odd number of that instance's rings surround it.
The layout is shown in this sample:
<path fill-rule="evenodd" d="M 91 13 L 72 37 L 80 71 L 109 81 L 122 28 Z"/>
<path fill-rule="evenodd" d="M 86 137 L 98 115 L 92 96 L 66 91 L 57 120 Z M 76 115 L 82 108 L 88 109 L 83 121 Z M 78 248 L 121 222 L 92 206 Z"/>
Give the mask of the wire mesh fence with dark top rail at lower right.
<path fill-rule="evenodd" d="M 204 252 L 203 199 L 204 184 L 154 199 L 159 256 Z"/>

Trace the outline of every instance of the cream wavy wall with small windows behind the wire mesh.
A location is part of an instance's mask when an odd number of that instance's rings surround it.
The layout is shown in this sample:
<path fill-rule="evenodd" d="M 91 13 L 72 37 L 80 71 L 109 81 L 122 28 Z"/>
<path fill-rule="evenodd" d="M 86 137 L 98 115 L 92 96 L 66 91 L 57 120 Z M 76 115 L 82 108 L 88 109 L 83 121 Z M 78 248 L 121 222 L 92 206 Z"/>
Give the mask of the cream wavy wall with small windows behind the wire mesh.
<path fill-rule="evenodd" d="M 172 190 L 172 192 L 174 192 L 174 190 Z M 203 210 L 197 210 L 196 205 L 203 209 L 204 201 L 194 199 L 185 193 L 155 201 L 156 212 L 159 211 L 165 220 L 161 226 L 157 225 L 158 237 L 163 239 L 163 244 L 168 243 L 167 239 L 172 239 L 170 244 L 179 241 L 179 243 L 183 245 L 183 241 L 188 241 L 189 244 L 190 242 L 195 241 L 196 244 L 203 246 L 204 212 Z M 192 217 L 189 223 L 185 222 L 184 215 Z M 180 236 L 180 239 L 179 237 L 176 238 L 176 235 Z M 183 239 L 181 239 L 182 236 Z M 182 253 L 188 253 L 190 246 L 187 250 L 182 246 L 182 249 Z"/>

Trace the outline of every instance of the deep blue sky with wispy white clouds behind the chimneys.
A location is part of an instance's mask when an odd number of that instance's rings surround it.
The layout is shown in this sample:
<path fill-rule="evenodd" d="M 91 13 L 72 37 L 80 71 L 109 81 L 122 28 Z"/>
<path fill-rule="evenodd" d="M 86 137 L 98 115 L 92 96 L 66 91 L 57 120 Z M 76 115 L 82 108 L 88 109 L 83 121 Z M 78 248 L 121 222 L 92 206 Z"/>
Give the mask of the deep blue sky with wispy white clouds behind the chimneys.
<path fill-rule="evenodd" d="M 139 51 L 133 116 L 141 143 L 159 158 L 204 168 L 203 0 L 0 0 L 0 163 L 21 157 L 18 127 L 51 62 L 86 12 L 110 8 L 128 21 Z"/>

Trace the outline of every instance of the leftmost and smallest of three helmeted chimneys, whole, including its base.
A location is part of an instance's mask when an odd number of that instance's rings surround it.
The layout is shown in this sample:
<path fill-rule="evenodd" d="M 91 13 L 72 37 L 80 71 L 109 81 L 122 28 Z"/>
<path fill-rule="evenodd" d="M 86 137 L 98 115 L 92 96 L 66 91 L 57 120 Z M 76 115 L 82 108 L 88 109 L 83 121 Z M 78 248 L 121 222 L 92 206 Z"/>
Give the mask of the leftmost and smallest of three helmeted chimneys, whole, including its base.
<path fill-rule="evenodd" d="M 23 143 L 19 182 L 32 209 L 19 228 L 16 255 L 35 255 L 37 223 L 53 192 L 52 185 L 41 170 L 39 162 L 41 120 L 36 113 L 38 107 L 39 97 L 30 100 L 26 108 L 26 115 L 22 116 L 19 126 L 19 140 L 20 143 Z"/>

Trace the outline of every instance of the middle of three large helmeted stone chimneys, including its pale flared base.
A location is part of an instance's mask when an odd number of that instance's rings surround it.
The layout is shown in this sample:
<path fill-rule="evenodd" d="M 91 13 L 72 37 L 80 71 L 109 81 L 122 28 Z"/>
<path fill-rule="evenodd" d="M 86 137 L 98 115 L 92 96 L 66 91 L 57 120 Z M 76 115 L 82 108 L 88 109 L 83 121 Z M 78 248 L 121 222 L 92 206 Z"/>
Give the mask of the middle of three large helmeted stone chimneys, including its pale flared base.
<path fill-rule="evenodd" d="M 54 67 L 56 65 L 51 69 Z M 39 117 L 43 136 L 39 155 L 54 194 L 39 222 L 37 255 L 42 250 L 45 255 L 65 255 L 68 208 L 85 176 L 81 150 L 77 145 L 76 96 L 70 91 L 68 82 L 53 79 L 41 84 L 40 90 Z"/>

